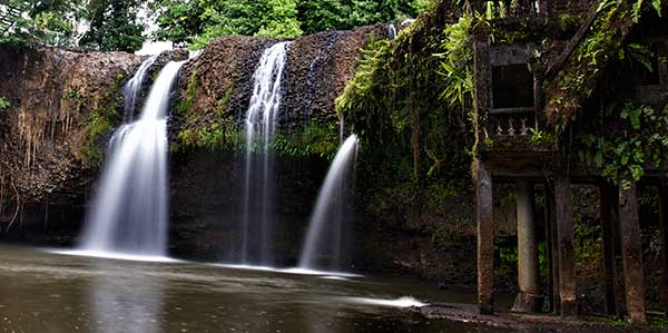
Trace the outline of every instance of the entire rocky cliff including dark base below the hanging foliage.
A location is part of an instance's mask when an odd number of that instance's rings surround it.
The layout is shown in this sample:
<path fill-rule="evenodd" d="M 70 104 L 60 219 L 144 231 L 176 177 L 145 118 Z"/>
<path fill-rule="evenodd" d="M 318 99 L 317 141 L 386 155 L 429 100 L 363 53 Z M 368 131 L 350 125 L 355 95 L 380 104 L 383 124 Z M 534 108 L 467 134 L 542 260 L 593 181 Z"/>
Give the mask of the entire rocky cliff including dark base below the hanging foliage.
<path fill-rule="evenodd" d="M 278 264 L 296 262 L 338 146 L 334 100 L 354 76 L 360 49 L 371 36 L 386 33 L 386 26 L 327 31 L 289 46 L 279 110 L 282 144 L 275 147 Z M 238 237 L 235 222 L 243 190 L 239 129 L 257 62 L 275 42 L 223 37 L 179 74 L 169 120 L 174 255 L 207 261 L 234 255 L 229 244 Z M 160 56 L 145 90 L 166 61 L 184 57 L 184 51 Z M 11 101 L 0 110 L 0 237 L 69 245 L 85 221 L 105 144 L 122 119 L 122 85 L 144 59 L 2 48 L 0 60 L 0 97 Z M 356 266 L 472 281 L 474 262 L 462 261 L 474 252 L 472 204 L 464 195 L 429 212 L 418 206 L 389 210 L 383 205 L 367 209 L 370 202 L 360 198 Z"/>

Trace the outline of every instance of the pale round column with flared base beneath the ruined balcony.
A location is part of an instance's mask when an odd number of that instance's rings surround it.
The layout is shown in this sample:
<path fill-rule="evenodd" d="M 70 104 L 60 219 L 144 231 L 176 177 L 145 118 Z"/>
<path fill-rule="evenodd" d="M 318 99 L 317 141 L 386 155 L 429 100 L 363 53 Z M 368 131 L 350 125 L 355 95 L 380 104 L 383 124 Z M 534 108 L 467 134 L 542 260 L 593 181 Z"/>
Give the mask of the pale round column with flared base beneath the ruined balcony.
<path fill-rule="evenodd" d="M 518 218 L 518 282 L 513 312 L 536 313 L 542 307 L 538 241 L 533 216 L 533 184 L 527 179 L 517 182 Z"/>

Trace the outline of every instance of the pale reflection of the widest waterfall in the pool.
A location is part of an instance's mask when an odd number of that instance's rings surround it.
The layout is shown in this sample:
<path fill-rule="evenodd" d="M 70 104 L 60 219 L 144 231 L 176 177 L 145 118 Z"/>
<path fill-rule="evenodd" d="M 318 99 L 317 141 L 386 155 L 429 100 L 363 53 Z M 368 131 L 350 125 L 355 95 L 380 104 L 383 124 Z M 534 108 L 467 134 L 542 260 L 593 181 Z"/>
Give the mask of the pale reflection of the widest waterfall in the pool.
<path fill-rule="evenodd" d="M 94 270 L 100 273 L 88 293 L 95 332 L 164 332 L 159 319 L 165 281 L 118 272 L 108 263 L 96 264 Z"/>

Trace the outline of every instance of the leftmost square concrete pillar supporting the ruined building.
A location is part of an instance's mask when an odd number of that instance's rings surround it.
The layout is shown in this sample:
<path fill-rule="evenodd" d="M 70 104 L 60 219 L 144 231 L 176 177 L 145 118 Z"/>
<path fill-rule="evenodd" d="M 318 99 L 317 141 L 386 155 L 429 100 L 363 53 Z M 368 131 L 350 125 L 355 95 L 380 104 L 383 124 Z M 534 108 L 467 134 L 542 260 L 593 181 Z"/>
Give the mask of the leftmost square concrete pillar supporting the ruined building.
<path fill-rule="evenodd" d="M 478 159 L 478 304 L 481 314 L 494 313 L 494 226 L 492 218 L 492 177 Z"/>

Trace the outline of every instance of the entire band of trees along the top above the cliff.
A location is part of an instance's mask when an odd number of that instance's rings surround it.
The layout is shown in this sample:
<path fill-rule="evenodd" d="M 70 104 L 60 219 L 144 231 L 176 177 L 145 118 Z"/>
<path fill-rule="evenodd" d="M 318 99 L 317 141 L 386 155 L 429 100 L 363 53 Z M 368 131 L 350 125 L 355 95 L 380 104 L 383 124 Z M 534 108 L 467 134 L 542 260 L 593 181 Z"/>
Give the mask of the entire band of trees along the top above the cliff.
<path fill-rule="evenodd" d="M 0 42 L 134 51 L 146 39 L 202 48 L 224 35 L 295 38 L 418 16 L 432 0 L 9 0 Z M 147 25 L 157 27 L 149 32 Z M 7 28 L 7 31 L 4 28 Z"/>

